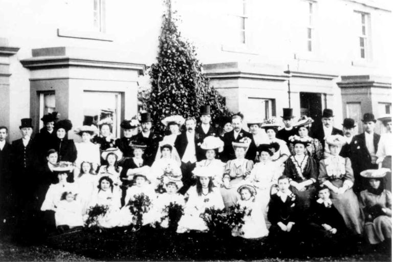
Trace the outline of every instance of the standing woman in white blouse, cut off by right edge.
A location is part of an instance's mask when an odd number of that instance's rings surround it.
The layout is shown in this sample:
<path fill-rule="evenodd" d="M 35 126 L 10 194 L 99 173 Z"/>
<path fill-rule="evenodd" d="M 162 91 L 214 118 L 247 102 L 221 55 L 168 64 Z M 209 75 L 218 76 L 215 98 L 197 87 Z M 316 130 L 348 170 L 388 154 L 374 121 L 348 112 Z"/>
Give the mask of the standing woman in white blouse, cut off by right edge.
<path fill-rule="evenodd" d="M 393 146 L 393 136 L 391 135 L 391 115 L 384 115 L 378 118 L 386 127 L 387 133 L 381 134 L 378 143 L 378 150 L 376 156 L 378 157 L 376 163 L 379 167 L 389 168 L 391 170 L 391 151 Z M 391 191 L 391 171 L 386 173 L 385 176 L 386 189 Z"/>

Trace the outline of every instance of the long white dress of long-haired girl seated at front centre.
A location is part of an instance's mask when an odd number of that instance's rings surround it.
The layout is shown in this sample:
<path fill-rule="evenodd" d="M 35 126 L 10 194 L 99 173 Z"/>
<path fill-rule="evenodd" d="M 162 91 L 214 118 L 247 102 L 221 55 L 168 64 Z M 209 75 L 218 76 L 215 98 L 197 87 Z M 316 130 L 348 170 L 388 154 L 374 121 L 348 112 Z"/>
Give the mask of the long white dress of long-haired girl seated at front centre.
<path fill-rule="evenodd" d="M 184 208 L 184 215 L 178 224 L 178 233 L 184 233 L 189 230 L 207 231 L 208 227 L 205 221 L 200 217 L 206 208 L 223 209 L 224 202 L 220 190 L 213 188 L 210 193 L 198 195 L 197 187 L 193 186 L 188 191 L 189 198 Z"/>

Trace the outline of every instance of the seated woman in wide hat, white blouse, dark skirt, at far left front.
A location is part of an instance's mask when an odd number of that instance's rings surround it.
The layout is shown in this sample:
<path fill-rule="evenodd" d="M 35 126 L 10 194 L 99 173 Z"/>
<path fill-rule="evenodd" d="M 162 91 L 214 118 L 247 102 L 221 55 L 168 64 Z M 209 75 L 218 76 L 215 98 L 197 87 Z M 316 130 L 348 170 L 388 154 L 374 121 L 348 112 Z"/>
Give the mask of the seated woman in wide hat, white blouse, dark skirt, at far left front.
<path fill-rule="evenodd" d="M 77 185 L 74 183 L 67 182 L 69 172 L 72 170 L 71 165 L 58 164 L 52 168 L 57 174 L 57 181 L 55 184 L 51 184 L 45 195 L 45 200 L 42 202 L 41 211 L 44 211 L 44 221 L 48 230 L 53 230 L 55 227 L 55 212 L 57 206 L 60 203 L 61 195 L 64 192 L 79 192 Z"/>

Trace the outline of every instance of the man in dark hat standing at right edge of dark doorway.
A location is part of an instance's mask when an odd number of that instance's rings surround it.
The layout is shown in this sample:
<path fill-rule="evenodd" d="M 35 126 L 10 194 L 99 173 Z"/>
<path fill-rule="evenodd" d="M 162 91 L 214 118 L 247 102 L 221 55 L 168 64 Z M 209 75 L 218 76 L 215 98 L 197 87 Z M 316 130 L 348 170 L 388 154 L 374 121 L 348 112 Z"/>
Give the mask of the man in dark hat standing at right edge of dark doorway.
<path fill-rule="evenodd" d="M 321 142 L 324 154 L 329 155 L 329 146 L 326 146 L 325 137 L 330 135 L 343 135 L 342 131 L 333 126 L 333 110 L 325 108 L 322 113 L 322 123 L 311 127 L 311 137 Z"/>

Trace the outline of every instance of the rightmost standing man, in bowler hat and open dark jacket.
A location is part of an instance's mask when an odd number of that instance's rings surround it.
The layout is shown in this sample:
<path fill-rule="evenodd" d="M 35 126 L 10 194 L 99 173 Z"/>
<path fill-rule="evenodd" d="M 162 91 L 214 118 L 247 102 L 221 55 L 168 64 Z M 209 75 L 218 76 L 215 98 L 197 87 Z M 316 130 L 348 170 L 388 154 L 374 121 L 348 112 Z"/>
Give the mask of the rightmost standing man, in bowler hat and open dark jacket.
<path fill-rule="evenodd" d="M 351 142 L 351 162 L 355 176 L 354 191 L 356 193 L 364 190 L 367 186 L 367 181 L 362 179 L 360 172 L 378 168 L 376 152 L 380 135 L 374 133 L 376 119 L 373 114 L 366 113 L 363 115 L 362 122 L 365 132 L 356 135 Z"/>

